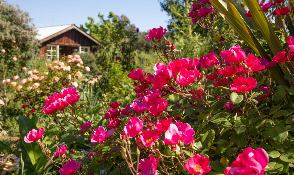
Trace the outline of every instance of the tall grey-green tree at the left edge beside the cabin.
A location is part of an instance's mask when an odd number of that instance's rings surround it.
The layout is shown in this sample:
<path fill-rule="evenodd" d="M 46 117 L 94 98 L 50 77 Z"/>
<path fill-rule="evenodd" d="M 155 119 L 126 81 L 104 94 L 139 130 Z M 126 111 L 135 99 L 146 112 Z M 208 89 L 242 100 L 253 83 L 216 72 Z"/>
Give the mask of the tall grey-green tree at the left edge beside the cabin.
<path fill-rule="evenodd" d="M 1 57 L 1 67 L 6 65 L 11 72 L 20 72 L 26 62 L 37 56 L 39 52 L 39 41 L 35 38 L 37 32 L 32 24 L 32 19 L 19 7 L 14 7 L 6 1 L 0 1 L 0 49 L 6 50 L 5 57 Z M 15 52 L 15 48 L 18 48 Z M 18 62 L 12 60 L 19 59 Z M 3 71 L 0 71 L 3 77 Z"/>

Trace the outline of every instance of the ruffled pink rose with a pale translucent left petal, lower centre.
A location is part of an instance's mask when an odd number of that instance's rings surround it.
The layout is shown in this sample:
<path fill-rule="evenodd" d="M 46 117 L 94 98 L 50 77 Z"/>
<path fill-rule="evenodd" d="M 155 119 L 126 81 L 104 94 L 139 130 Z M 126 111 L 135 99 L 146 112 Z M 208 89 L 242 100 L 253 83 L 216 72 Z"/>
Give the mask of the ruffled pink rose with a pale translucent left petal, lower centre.
<path fill-rule="evenodd" d="M 194 141 L 195 131 L 188 123 L 171 123 L 165 133 L 165 139 L 162 141 L 167 145 L 177 145 L 179 141 L 183 144 L 190 144 Z"/>

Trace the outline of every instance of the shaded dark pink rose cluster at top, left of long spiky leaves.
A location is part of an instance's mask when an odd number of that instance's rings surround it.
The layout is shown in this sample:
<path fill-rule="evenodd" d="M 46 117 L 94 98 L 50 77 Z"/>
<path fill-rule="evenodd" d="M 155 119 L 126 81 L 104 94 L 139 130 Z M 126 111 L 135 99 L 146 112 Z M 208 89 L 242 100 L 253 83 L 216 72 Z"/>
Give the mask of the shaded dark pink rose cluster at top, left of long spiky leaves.
<path fill-rule="evenodd" d="M 198 3 L 192 4 L 191 11 L 188 14 L 188 17 L 192 18 L 192 22 L 196 23 L 202 17 L 211 14 L 213 11 L 213 6 L 209 0 L 198 0 Z"/>

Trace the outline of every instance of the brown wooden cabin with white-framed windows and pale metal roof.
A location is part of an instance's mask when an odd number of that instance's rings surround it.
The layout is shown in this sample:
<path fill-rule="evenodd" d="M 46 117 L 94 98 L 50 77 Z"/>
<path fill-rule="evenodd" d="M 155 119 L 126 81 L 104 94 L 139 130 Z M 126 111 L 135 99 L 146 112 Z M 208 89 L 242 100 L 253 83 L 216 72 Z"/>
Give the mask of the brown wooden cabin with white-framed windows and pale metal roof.
<path fill-rule="evenodd" d="M 49 61 L 59 60 L 61 56 L 73 53 L 94 53 L 95 48 L 92 46 L 100 44 L 74 24 L 36 29 L 36 38 L 41 41 L 39 57 Z"/>

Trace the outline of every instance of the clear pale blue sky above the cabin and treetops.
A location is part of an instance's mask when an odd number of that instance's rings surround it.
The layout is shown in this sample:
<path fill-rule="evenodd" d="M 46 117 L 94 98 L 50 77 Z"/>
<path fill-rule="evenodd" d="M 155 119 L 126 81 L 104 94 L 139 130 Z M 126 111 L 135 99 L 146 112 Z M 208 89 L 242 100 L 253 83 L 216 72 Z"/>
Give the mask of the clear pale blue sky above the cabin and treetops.
<path fill-rule="evenodd" d="M 100 12 L 108 16 L 109 11 L 116 15 L 126 15 L 140 31 L 154 27 L 166 27 L 168 16 L 161 11 L 158 0 L 7 0 L 19 5 L 29 13 L 36 27 L 63 24 L 84 24 L 87 17 L 98 19 Z"/>

